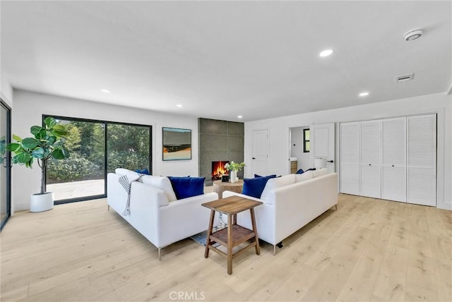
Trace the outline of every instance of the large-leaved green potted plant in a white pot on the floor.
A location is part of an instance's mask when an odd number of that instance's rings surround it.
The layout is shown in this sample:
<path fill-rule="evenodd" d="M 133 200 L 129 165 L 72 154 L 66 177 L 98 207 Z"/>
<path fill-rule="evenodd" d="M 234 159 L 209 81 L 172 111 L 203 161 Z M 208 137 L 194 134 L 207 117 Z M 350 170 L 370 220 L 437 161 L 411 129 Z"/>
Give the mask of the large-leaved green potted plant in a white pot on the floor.
<path fill-rule="evenodd" d="M 44 120 L 44 127 L 31 126 L 31 138 L 20 138 L 13 135 L 14 143 L 9 143 L 7 149 L 14 153 L 13 164 L 23 164 L 32 168 L 37 160 L 41 168 L 41 192 L 31 195 L 30 211 L 42 212 L 52 209 L 54 198 L 52 192 L 45 192 L 45 171 L 49 159 L 69 158 L 69 150 L 65 147 L 67 128 L 52 117 Z"/>

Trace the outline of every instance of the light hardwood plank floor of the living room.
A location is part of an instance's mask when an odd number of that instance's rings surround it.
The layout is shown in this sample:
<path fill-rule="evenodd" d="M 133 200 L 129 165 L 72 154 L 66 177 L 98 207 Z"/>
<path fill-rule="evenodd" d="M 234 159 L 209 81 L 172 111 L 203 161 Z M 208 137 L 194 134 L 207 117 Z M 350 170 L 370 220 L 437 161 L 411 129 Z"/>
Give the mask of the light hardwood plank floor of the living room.
<path fill-rule="evenodd" d="M 159 262 L 105 199 L 58 205 L 1 232 L 1 301 L 451 301 L 451 231 L 451 211 L 339 195 L 275 256 L 262 243 L 228 275 L 191 239 Z"/>

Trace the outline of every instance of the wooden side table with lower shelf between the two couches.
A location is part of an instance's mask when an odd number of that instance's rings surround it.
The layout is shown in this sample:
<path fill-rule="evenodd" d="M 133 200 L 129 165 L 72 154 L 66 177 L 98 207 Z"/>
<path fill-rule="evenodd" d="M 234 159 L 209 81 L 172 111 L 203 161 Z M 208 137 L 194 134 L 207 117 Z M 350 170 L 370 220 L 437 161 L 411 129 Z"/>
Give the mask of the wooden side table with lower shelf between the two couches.
<path fill-rule="evenodd" d="M 256 228 L 256 219 L 254 218 L 254 207 L 262 205 L 260 201 L 251 200 L 239 196 L 230 196 L 227 198 L 210 201 L 209 203 L 203 203 L 201 205 L 210 209 L 210 221 L 207 232 L 204 258 L 208 258 L 209 250 L 214 250 L 220 255 L 225 256 L 227 258 L 227 274 L 232 274 L 232 259 L 234 258 L 234 256 L 242 253 L 248 248 L 251 248 L 251 246 L 254 246 L 257 255 L 261 253 Z M 237 213 L 246 210 L 249 210 L 251 215 L 251 224 L 253 227 L 252 230 L 237 225 Z M 227 228 L 213 232 L 212 229 L 215 211 L 227 214 Z M 236 253 L 232 252 L 232 248 L 234 248 L 234 246 L 238 246 L 239 244 L 253 238 L 254 241 L 249 243 L 247 246 L 244 246 L 240 250 L 237 250 Z M 213 246 L 214 243 L 220 243 L 222 246 L 225 246 L 227 248 L 227 253 L 224 253 L 222 250 L 215 248 L 215 246 Z"/>

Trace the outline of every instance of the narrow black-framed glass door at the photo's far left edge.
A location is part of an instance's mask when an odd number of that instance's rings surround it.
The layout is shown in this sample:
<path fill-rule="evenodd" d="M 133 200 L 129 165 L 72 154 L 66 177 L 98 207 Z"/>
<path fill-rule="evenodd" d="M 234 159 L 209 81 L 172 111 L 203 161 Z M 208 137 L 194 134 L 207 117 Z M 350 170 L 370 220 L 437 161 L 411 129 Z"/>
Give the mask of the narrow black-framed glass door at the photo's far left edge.
<path fill-rule="evenodd" d="M 11 109 L 0 99 L 0 230 L 11 215 L 11 159 L 6 144 L 11 142 Z"/>

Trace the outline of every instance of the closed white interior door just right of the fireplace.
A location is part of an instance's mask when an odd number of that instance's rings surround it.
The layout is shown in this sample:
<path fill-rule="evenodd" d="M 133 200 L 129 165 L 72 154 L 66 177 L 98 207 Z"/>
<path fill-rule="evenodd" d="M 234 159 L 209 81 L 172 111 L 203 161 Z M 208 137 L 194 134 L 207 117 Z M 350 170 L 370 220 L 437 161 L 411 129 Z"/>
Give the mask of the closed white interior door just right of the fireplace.
<path fill-rule="evenodd" d="M 268 129 L 253 131 L 251 150 L 251 173 L 266 176 L 268 174 Z"/>

